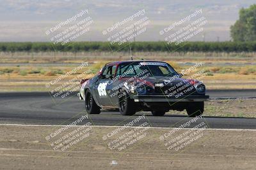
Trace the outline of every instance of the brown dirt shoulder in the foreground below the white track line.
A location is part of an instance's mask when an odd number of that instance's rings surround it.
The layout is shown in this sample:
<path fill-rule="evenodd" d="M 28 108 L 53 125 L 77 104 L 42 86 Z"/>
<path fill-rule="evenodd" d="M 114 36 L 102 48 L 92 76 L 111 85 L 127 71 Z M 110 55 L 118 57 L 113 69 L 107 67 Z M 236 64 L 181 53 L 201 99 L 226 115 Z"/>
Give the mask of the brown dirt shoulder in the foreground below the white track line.
<path fill-rule="evenodd" d="M 58 135 L 65 136 L 78 128 L 70 127 Z M 200 138 L 184 148 L 168 150 L 166 143 L 174 137 L 161 140 L 159 136 L 168 134 L 171 129 L 147 129 L 143 131 L 146 133 L 144 138 L 118 151 L 108 148 L 113 138 L 104 139 L 104 136 L 113 132 L 115 136 L 123 136 L 131 128 L 116 132 L 116 127 L 92 127 L 86 138 L 61 151 L 54 150 L 51 142 L 45 139 L 59 129 L 56 126 L 0 125 L 1 168 L 254 169 L 256 166 L 256 131 L 205 130 Z M 177 131 L 175 135 L 179 136 L 186 131 Z"/>

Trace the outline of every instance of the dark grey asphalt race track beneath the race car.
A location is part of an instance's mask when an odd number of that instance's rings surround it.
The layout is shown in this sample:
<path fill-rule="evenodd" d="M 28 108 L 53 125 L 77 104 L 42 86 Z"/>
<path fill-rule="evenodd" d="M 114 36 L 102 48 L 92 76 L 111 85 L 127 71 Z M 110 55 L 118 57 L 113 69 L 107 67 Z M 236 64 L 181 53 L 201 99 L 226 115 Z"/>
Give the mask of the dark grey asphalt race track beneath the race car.
<path fill-rule="evenodd" d="M 256 90 L 208 90 L 207 94 L 212 99 L 254 98 Z M 143 114 L 152 127 L 179 127 L 191 119 L 172 114 L 152 117 L 150 112 L 125 117 L 117 111 L 102 111 L 100 115 L 89 117 L 93 125 L 124 125 Z M 0 93 L 0 124 L 67 125 L 82 115 L 86 115 L 84 102 L 79 101 L 76 94 L 65 99 L 52 99 L 47 92 Z M 256 129 L 256 118 L 204 117 L 202 121 L 216 129 Z"/>

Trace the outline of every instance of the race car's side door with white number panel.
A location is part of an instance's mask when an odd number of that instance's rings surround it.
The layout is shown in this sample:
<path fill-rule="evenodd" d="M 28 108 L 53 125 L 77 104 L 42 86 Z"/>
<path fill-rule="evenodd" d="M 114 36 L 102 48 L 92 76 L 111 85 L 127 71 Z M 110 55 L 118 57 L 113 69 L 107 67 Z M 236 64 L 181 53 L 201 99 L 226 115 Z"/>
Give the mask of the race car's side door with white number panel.
<path fill-rule="evenodd" d="M 97 101 L 102 106 L 113 106 L 108 91 L 112 89 L 111 80 L 115 74 L 116 66 L 106 66 L 99 76 L 99 81 L 95 83 L 95 95 Z"/>

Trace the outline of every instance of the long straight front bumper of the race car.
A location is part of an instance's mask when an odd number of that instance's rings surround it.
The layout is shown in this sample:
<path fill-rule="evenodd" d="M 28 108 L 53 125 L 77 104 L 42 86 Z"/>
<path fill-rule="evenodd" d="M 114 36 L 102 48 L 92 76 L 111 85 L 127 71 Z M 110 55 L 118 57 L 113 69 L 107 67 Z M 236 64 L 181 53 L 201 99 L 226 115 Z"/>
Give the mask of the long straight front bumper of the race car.
<path fill-rule="evenodd" d="M 134 95 L 131 96 L 131 99 L 134 99 L 134 102 L 198 102 L 206 101 L 209 99 L 209 96 L 204 95 L 188 95 L 180 96 L 178 98 L 164 95 Z"/>

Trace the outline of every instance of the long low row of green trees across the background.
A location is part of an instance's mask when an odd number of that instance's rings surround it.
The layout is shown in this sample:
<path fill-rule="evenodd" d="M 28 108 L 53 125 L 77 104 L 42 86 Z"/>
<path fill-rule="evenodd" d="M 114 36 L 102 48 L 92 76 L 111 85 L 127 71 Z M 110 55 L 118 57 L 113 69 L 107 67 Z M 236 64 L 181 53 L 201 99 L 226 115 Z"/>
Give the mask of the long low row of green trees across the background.
<path fill-rule="evenodd" d="M 163 41 L 124 43 L 74 42 L 68 45 L 52 43 L 0 43 L 1 52 L 256 52 L 256 41 L 184 42 L 167 45 Z"/>

